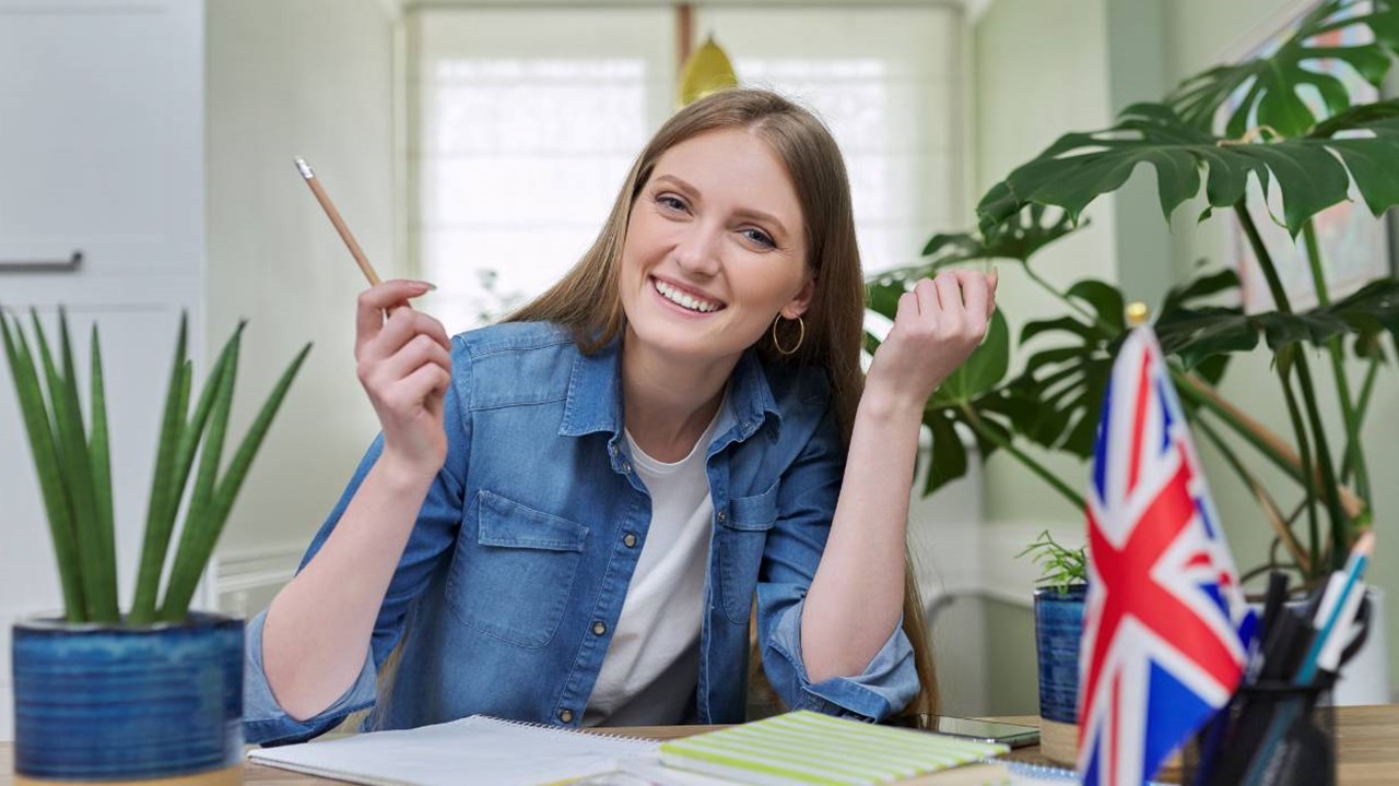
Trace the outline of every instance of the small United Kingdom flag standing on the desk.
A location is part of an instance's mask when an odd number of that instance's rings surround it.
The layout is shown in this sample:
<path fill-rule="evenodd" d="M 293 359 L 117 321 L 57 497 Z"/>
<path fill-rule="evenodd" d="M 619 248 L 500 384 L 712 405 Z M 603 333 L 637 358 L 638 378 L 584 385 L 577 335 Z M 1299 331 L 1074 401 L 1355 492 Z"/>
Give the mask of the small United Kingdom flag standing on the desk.
<path fill-rule="evenodd" d="M 1090 487 L 1079 775 L 1139 785 L 1228 702 L 1252 627 L 1149 327 L 1114 362 Z"/>

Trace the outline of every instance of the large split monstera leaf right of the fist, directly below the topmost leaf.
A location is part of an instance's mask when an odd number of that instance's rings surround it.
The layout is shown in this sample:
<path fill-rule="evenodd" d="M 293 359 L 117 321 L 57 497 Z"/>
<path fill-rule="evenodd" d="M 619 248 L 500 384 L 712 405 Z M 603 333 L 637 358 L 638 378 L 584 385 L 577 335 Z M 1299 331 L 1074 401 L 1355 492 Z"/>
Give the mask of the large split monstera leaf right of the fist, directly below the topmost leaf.
<path fill-rule="evenodd" d="M 1347 134 L 1337 138 L 1340 131 Z M 1027 206 L 1062 207 L 1072 220 L 1094 199 L 1126 183 L 1139 164 L 1156 168 L 1161 211 L 1171 213 L 1200 192 L 1212 207 L 1242 201 L 1252 175 L 1267 190 L 1277 183 L 1283 221 L 1297 235 L 1326 207 L 1344 201 L 1354 180 L 1370 210 L 1379 215 L 1399 204 L 1399 99 L 1357 106 L 1301 138 L 1234 144 L 1182 120 L 1160 103 L 1135 103 L 1116 126 L 1060 137 L 1037 158 L 993 186 L 977 213 L 981 228 L 1013 221 Z M 1202 215 L 1203 218 L 1203 215 Z"/>

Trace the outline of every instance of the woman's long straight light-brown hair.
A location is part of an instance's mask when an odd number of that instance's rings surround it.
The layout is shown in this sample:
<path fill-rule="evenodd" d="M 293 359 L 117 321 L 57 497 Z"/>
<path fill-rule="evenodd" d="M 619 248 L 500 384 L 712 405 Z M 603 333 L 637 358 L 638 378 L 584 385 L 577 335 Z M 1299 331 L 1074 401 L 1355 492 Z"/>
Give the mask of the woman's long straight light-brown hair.
<path fill-rule="evenodd" d="M 585 352 L 617 338 L 625 324 L 618 292 L 623 242 L 637 194 L 655 171 L 656 161 L 672 147 L 720 129 L 743 129 L 762 138 L 786 166 L 802 207 L 806 229 L 807 271 L 816 290 L 806 313 L 804 338 L 797 351 L 782 354 L 772 331 L 758 341 L 758 352 L 769 368 L 824 368 L 831 380 L 832 400 L 845 443 L 849 445 L 855 410 L 865 376 L 860 371 L 860 341 L 865 320 L 865 278 L 855 241 L 855 214 L 845 161 L 831 133 L 814 115 L 774 92 L 729 90 L 686 106 L 656 131 L 637 157 L 611 213 L 582 259 L 548 291 L 534 298 L 505 322 L 554 322 L 571 327 Z M 792 326 L 786 326 L 795 330 Z M 779 326 L 778 330 L 782 330 Z M 795 334 L 782 345 L 796 343 Z M 907 710 L 935 712 L 937 685 L 930 643 L 918 599 L 912 565 L 905 559 L 904 631 L 914 645 L 922 692 Z"/>

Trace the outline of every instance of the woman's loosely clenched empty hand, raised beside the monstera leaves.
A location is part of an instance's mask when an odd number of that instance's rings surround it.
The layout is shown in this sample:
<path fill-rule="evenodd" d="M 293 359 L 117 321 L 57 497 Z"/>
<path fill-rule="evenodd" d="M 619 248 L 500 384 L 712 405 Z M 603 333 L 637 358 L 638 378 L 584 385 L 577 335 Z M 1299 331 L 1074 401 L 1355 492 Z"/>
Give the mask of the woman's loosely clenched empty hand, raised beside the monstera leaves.
<path fill-rule="evenodd" d="M 874 352 L 866 393 L 916 406 L 971 355 L 996 310 L 996 273 L 947 270 L 898 299 L 894 327 Z"/>

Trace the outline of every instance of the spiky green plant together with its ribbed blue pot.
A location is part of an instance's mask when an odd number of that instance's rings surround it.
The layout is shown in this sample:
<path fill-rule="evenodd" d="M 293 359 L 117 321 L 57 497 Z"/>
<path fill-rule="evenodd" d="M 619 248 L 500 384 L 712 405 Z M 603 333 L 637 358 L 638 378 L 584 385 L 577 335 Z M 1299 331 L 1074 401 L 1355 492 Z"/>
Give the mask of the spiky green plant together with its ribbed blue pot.
<path fill-rule="evenodd" d="M 36 313 L 32 344 L 18 319 L 3 312 L 0 334 L 39 478 L 64 606 L 62 615 L 24 620 L 11 631 L 17 783 L 241 782 L 243 622 L 190 611 L 189 606 L 309 344 L 281 375 L 224 464 L 242 326 L 224 345 L 192 410 L 193 366 L 182 319 L 136 593 L 123 614 L 118 607 L 97 326 L 87 417 L 66 315 L 59 316 L 56 351 Z M 166 571 L 182 509 L 183 526 Z"/>

